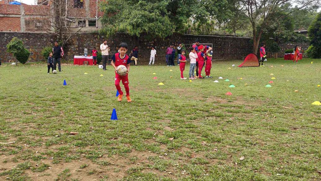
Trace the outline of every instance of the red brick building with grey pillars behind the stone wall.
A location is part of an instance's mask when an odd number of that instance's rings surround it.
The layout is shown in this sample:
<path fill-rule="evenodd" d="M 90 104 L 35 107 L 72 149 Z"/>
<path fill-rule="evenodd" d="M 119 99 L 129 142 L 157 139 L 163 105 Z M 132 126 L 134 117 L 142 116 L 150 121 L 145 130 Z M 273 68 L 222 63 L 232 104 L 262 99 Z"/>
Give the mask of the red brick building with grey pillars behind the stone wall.
<path fill-rule="evenodd" d="M 10 5 L 12 0 L 0 0 L 0 31 L 45 32 L 48 31 L 48 12 L 52 12 L 53 0 L 38 0 L 38 5 Z M 80 32 L 98 31 L 103 12 L 97 5 L 101 0 L 67 0 L 64 9 L 67 11 L 65 25 L 70 30 Z M 67 2 L 67 4 L 65 4 Z"/>

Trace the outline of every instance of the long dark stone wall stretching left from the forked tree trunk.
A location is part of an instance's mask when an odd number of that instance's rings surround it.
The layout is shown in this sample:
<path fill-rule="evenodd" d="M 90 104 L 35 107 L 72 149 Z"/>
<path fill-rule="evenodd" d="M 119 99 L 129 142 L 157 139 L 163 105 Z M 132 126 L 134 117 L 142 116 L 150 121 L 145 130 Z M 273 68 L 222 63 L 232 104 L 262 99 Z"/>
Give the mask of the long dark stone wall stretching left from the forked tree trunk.
<path fill-rule="evenodd" d="M 29 61 L 42 61 L 44 60 L 40 54 L 42 48 L 46 46 L 53 46 L 55 41 L 54 37 L 51 37 L 48 33 L 36 33 L 36 32 L 0 32 L 0 59 L 1 62 L 15 62 L 15 58 L 12 54 L 6 52 L 6 45 L 13 37 L 17 37 L 23 41 L 25 48 L 27 48 L 31 54 Z M 246 56 L 252 50 L 251 38 L 243 37 L 227 37 L 227 36 L 207 36 L 207 35 L 185 35 L 174 33 L 171 37 L 166 39 L 152 39 L 149 40 L 146 37 L 132 37 L 124 33 L 117 33 L 113 37 L 108 38 L 108 45 L 110 45 L 111 52 L 116 52 L 116 47 L 121 42 L 128 44 L 128 54 L 135 45 L 139 46 L 139 62 L 147 64 L 150 58 L 151 47 L 154 46 L 157 50 L 157 63 L 165 62 L 165 52 L 169 44 L 175 44 L 175 47 L 179 42 L 185 44 L 192 44 L 195 39 L 199 39 L 201 43 L 213 43 L 213 59 L 241 59 L 242 56 Z M 77 33 L 74 38 L 65 47 L 65 60 L 73 61 L 74 55 L 83 54 L 83 49 L 87 48 L 89 51 L 92 47 L 100 52 L 100 44 L 103 42 L 104 36 L 98 33 Z"/>

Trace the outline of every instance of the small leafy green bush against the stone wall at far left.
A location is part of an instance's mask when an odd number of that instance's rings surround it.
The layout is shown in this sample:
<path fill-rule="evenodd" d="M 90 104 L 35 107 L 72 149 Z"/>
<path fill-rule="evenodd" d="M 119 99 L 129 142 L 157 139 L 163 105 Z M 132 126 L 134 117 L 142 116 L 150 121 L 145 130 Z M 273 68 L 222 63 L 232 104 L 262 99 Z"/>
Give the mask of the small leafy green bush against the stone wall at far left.
<path fill-rule="evenodd" d="M 13 53 L 16 57 L 16 65 L 20 63 L 24 64 L 28 61 L 30 56 L 30 52 L 23 47 L 23 43 L 17 37 L 13 37 L 13 39 L 7 44 L 7 52 Z"/>

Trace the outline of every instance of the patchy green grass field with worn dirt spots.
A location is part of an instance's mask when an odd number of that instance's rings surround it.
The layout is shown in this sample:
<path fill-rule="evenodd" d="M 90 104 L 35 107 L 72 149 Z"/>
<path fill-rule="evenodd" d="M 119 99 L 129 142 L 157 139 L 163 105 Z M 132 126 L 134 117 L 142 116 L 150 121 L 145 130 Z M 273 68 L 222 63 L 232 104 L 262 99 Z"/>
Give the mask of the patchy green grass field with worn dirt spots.
<path fill-rule="evenodd" d="M 132 103 L 111 66 L 2 66 L 0 180 L 321 180 L 321 60 L 240 63 L 192 82 L 132 66 Z"/>

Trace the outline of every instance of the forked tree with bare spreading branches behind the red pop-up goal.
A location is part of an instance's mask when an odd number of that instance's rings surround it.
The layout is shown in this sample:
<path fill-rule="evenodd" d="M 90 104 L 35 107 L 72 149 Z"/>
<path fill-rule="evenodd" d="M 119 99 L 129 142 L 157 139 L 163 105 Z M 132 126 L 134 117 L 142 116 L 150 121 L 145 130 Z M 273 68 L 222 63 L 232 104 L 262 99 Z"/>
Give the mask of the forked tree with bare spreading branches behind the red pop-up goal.
<path fill-rule="evenodd" d="M 252 25 L 253 53 L 256 54 L 262 33 L 266 31 L 266 27 L 269 27 L 275 21 L 273 17 L 281 5 L 286 3 L 298 4 L 298 6 L 291 10 L 291 12 L 280 17 L 284 18 L 299 9 L 317 5 L 319 0 L 240 0 L 240 2 L 243 5 L 247 18 Z"/>

